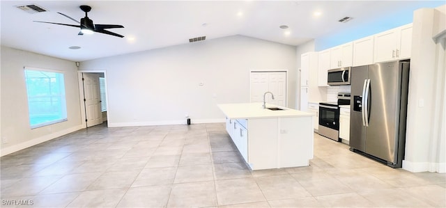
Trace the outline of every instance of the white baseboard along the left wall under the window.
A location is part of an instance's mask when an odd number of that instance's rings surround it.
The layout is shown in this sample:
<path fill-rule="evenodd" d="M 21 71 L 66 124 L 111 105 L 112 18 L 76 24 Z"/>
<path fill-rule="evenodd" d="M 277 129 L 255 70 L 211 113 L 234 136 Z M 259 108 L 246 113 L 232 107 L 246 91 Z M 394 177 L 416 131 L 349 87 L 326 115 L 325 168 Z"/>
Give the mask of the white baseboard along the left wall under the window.
<path fill-rule="evenodd" d="M 32 147 L 33 145 L 38 145 L 40 143 L 44 143 L 45 141 L 52 140 L 53 138 L 57 138 L 59 136 L 70 134 L 71 132 L 74 132 L 74 131 L 77 131 L 77 130 L 83 129 L 83 128 L 84 128 L 84 126 L 78 125 L 76 127 L 71 127 L 70 129 L 64 129 L 62 131 L 57 131 L 57 132 L 54 132 L 52 134 L 47 134 L 45 136 L 40 136 L 38 138 L 33 138 L 30 141 L 19 143 L 17 145 L 12 145 L 10 147 L 5 147 L 5 148 L 1 149 L 0 157 L 3 157 L 5 155 L 7 155 L 7 154 L 11 154 L 13 152 L 17 152 L 17 151 L 23 150 L 23 149 L 28 148 L 28 147 Z"/>

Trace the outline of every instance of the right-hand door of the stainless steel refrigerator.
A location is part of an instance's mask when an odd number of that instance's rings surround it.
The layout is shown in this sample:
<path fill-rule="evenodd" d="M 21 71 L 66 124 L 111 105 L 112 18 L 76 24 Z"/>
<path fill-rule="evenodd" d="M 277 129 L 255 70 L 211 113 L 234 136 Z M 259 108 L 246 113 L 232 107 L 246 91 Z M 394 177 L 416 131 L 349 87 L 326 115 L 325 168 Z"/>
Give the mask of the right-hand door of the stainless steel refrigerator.
<path fill-rule="evenodd" d="M 394 163 L 401 91 L 399 62 L 369 65 L 369 79 L 369 122 L 365 152 Z"/>

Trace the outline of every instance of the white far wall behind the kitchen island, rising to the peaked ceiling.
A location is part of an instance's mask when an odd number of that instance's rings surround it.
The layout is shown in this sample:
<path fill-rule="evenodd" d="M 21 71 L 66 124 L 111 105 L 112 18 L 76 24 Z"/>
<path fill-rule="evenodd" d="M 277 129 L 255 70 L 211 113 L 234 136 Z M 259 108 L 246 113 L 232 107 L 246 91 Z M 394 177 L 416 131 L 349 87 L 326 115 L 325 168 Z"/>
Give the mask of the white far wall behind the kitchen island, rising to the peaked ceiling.
<path fill-rule="evenodd" d="M 289 70 L 295 106 L 295 47 L 242 35 L 82 62 L 106 70 L 109 127 L 224 122 L 217 104 L 249 102 L 249 70 Z M 203 86 L 199 86 L 199 83 Z"/>

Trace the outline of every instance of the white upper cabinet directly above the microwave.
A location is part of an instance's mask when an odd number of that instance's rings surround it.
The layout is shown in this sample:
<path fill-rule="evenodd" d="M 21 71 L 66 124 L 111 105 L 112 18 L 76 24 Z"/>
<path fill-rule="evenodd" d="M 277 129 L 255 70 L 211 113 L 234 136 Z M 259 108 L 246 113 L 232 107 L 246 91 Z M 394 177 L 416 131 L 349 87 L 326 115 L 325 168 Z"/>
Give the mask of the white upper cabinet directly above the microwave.
<path fill-rule="evenodd" d="M 353 42 L 330 49 L 330 69 L 351 67 L 353 64 Z"/>

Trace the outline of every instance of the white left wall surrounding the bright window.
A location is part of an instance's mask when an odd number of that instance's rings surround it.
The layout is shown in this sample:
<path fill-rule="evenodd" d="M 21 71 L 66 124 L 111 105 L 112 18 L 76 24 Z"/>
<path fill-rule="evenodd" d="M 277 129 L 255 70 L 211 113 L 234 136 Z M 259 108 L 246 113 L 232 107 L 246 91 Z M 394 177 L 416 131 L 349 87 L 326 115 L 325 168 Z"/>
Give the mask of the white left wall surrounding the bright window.
<path fill-rule="evenodd" d="M 24 67 L 63 71 L 68 121 L 30 129 Z M 42 143 L 80 128 L 77 67 L 74 62 L 1 47 L 1 155 Z"/>

